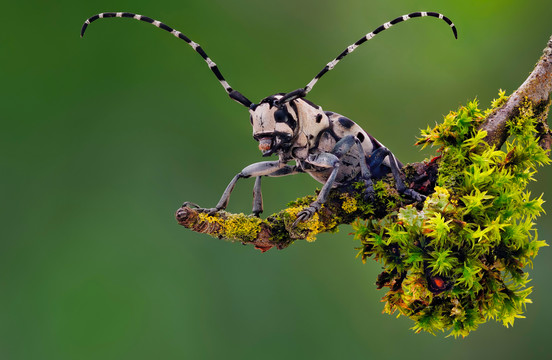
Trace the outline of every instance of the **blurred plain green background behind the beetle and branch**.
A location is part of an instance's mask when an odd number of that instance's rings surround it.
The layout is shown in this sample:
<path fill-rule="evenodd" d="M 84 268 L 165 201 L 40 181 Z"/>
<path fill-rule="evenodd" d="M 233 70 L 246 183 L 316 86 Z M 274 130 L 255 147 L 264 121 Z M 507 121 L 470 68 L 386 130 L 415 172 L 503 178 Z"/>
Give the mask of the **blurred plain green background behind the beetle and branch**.
<path fill-rule="evenodd" d="M 262 160 L 248 114 L 184 42 L 102 11 L 164 21 L 202 44 L 253 101 L 304 86 L 381 23 L 414 20 L 346 58 L 309 94 L 403 162 L 431 152 L 420 128 L 477 97 L 487 107 L 531 71 L 552 35 L 550 1 L 26 1 L 0 24 L 1 359 L 549 358 L 552 253 L 531 270 L 533 304 L 513 328 L 466 339 L 414 334 L 383 315 L 379 265 L 350 228 L 261 254 L 178 226 L 183 201 L 213 206 Z M 551 168 L 534 193 L 550 199 Z M 253 182 L 229 210 L 248 212 Z M 319 186 L 267 179 L 265 214 Z M 552 239 L 548 215 L 542 239 Z"/>

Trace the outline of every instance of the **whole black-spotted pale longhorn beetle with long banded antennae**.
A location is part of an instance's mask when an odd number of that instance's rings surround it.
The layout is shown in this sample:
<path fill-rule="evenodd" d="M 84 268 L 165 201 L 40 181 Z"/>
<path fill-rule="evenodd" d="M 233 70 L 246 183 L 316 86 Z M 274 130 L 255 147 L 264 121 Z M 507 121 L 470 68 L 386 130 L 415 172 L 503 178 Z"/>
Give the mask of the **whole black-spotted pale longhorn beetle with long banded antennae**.
<path fill-rule="evenodd" d="M 224 87 L 231 99 L 249 109 L 250 121 L 253 126 L 253 138 L 259 142 L 259 150 L 263 156 L 278 155 L 276 161 L 263 161 L 251 164 L 240 171 L 230 181 L 214 208 L 202 209 L 213 214 L 223 210 L 228 205 L 230 193 L 236 182 L 241 178 L 255 177 L 253 186 L 253 209 L 255 216 L 263 212 L 261 195 L 261 177 L 284 176 L 297 173 L 308 173 L 314 179 L 324 184 L 317 199 L 309 207 L 302 210 L 293 223 L 311 218 L 326 202 L 332 187 L 339 187 L 355 181 L 363 181 L 366 187 L 366 198 L 374 196 L 372 181 L 389 172 L 395 179 L 399 193 L 409 196 L 415 201 L 422 201 L 425 196 L 409 189 L 401 179 L 402 164 L 383 144 L 365 132 L 352 120 L 331 111 L 324 111 L 318 105 L 305 99 L 320 78 L 332 70 L 339 61 L 352 53 L 367 40 L 389 29 L 400 22 L 431 16 L 444 20 L 457 38 L 457 30 L 452 21 L 436 12 L 414 12 L 380 25 L 374 31 L 366 34 L 357 42 L 349 45 L 341 54 L 330 61 L 304 88 L 289 93 L 271 95 L 254 104 L 240 92 L 232 89 L 222 76 L 217 65 L 207 56 L 201 46 L 189 39 L 180 31 L 147 16 L 128 12 L 106 12 L 87 19 L 81 29 L 81 37 L 90 23 L 101 18 L 132 18 L 144 21 L 163 29 L 179 39 L 187 42 L 205 60 L 213 74 Z M 290 161 L 295 165 L 288 165 Z"/>

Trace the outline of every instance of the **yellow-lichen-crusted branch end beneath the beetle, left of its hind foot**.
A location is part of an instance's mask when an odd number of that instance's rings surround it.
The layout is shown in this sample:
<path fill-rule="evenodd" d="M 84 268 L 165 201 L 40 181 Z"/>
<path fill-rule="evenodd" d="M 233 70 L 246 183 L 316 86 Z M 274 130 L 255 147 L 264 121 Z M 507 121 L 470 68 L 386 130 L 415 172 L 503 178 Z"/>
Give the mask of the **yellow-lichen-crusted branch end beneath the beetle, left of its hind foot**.
<path fill-rule="evenodd" d="M 266 219 L 226 211 L 209 215 L 189 206 L 181 207 L 176 218 L 180 225 L 193 231 L 252 244 L 262 252 L 272 247 L 284 249 L 296 240 L 314 241 L 317 234 L 335 232 L 339 225 L 350 224 L 357 218 L 368 219 L 398 210 L 405 202 L 392 182 L 392 177 L 376 182 L 374 189 L 377 195 L 371 202 L 364 199 L 363 183 L 334 189 L 328 201 L 311 219 L 296 226 L 293 223 L 297 214 L 315 200 L 314 196 L 299 198 Z"/>

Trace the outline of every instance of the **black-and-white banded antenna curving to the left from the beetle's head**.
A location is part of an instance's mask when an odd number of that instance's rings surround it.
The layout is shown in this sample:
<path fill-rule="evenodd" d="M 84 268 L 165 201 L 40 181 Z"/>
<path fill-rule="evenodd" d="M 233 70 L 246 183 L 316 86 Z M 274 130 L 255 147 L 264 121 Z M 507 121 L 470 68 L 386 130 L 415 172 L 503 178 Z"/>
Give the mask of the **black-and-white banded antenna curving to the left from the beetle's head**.
<path fill-rule="evenodd" d="M 219 68 L 217 67 L 217 64 L 215 64 L 213 62 L 213 60 L 211 60 L 209 58 L 209 56 L 207 56 L 207 54 L 205 53 L 205 51 L 203 51 L 203 49 L 201 48 L 201 46 L 199 46 L 198 43 L 190 40 L 186 35 L 182 34 L 180 31 L 178 30 L 175 30 L 173 28 L 171 28 L 170 26 L 167 26 L 165 24 L 163 24 L 161 21 L 157 21 L 157 20 L 154 20 L 152 18 L 149 18 L 147 16 L 142 16 L 142 15 L 138 15 L 138 14 L 133 14 L 133 13 L 128 13 L 128 12 L 106 12 L 106 13 L 101 13 L 101 14 L 97 14 L 97 15 L 94 15 L 90 18 L 88 18 L 84 24 L 82 25 L 82 29 L 81 29 L 81 37 L 84 36 L 84 32 L 86 31 L 86 28 L 88 27 L 88 25 L 90 25 L 92 22 L 98 20 L 98 19 L 103 19 L 103 18 L 111 18 L 111 17 L 125 17 L 125 18 L 132 18 L 132 19 L 136 19 L 136 20 L 140 20 L 140 21 L 144 21 L 144 22 L 147 22 L 147 23 L 150 23 L 152 25 L 155 25 L 157 26 L 158 28 L 160 29 L 163 29 L 167 32 L 170 32 L 171 34 L 173 34 L 174 36 L 176 36 L 177 38 L 179 39 L 182 39 L 184 41 L 186 41 L 188 43 L 188 45 L 190 45 L 199 55 L 201 55 L 201 57 L 203 58 L 203 60 L 205 60 L 205 62 L 207 63 L 207 65 L 209 66 L 209 69 L 211 69 L 211 71 L 213 72 L 213 74 L 215 74 L 215 76 L 217 77 L 218 81 L 220 82 L 220 84 L 222 85 L 222 87 L 224 88 L 224 90 L 226 90 L 226 92 L 228 93 L 228 95 L 230 96 L 230 98 L 232 98 L 233 100 L 239 102 L 240 104 L 242 104 L 243 106 L 245 107 L 249 107 L 251 106 L 251 101 L 249 99 L 247 99 L 245 96 L 243 96 L 241 93 L 239 93 L 238 91 L 232 89 L 232 87 L 230 87 L 230 85 L 228 84 L 228 82 L 224 79 L 224 77 L 222 76 Z"/>

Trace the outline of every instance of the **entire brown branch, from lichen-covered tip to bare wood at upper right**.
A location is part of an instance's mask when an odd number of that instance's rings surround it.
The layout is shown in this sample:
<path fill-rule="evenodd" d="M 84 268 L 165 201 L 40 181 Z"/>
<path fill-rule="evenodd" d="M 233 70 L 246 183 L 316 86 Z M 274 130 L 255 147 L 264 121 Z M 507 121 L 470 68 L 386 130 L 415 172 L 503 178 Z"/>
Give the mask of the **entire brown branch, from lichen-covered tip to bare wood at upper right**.
<path fill-rule="evenodd" d="M 544 54 L 536 64 L 527 80 L 509 98 L 504 98 L 486 118 L 480 122 L 479 129 L 486 131 L 485 142 L 500 148 L 508 137 L 507 123 L 520 116 L 523 109 L 532 109 L 537 119 L 536 126 L 539 145 L 546 150 L 551 148 L 552 136 L 546 122 L 552 92 L 552 37 L 544 49 Z M 413 163 L 404 169 L 405 182 L 418 192 L 429 195 L 434 191 L 440 158 Z M 357 184 L 358 185 L 358 184 Z M 231 214 L 219 211 L 208 215 L 183 206 L 176 212 L 178 223 L 190 230 L 212 235 L 220 239 L 252 244 L 261 251 L 272 247 L 283 249 L 295 240 L 313 241 L 316 234 L 336 231 L 340 224 L 350 224 L 355 219 L 381 219 L 396 212 L 411 200 L 399 196 L 394 181 L 388 176 L 376 183 L 376 201 L 366 202 L 362 187 L 333 189 L 326 204 L 312 219 L 291 224 L 296 215 L 308 206 L 314 196 L 305 196 L 289 204 L 289 207 L 272 214 L 266 219 L 244 214 Z M 421 208 L 423 204 L 415 204 Z"/>

